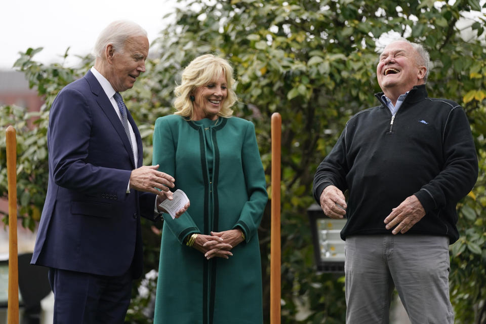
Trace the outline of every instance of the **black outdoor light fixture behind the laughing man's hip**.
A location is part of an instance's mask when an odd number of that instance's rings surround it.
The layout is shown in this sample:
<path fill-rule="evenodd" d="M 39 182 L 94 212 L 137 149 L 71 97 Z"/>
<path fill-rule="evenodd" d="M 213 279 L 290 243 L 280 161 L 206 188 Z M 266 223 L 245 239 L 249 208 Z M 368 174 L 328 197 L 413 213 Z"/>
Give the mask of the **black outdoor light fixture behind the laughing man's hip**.
<path fill-rule="evenodd" d="M 317 204 L 312 204 L 307 209 L 307 215 L 317 271 L 344 272 L 344 241 L 340 232 L 346 224 L 346 219 L 327 217 Z"/>

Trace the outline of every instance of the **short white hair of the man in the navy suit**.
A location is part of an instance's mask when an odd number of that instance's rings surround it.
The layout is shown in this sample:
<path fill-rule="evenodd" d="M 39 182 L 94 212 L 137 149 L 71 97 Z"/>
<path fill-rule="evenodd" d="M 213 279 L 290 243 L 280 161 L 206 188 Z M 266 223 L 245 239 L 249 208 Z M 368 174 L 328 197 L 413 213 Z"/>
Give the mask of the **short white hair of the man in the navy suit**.
<path fill-rule="evenodd" d="M 101 31 L 96 40 L 96 58 L 106 58 L 105 49 L 109 44 L 113 46 L 113 51 L 123 51 L 127 38 L 135 36 L 147 36 L 147 32 L 139 24 L 129 20 L 113 21 Z"/>

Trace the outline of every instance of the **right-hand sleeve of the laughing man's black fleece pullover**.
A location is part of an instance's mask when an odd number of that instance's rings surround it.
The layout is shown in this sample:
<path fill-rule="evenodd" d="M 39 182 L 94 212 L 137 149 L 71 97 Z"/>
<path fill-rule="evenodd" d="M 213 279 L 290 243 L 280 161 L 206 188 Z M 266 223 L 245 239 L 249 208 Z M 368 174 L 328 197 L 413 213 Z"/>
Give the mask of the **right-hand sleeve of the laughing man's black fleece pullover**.
<path fill-rule="evenodd" d="M 459 201 L 474 187 L 478 174 L 476 149 L 466 113 L 461 107 L 449 114 L 443 131 L 443 170 L 415 193 L 425 212 Z"/>

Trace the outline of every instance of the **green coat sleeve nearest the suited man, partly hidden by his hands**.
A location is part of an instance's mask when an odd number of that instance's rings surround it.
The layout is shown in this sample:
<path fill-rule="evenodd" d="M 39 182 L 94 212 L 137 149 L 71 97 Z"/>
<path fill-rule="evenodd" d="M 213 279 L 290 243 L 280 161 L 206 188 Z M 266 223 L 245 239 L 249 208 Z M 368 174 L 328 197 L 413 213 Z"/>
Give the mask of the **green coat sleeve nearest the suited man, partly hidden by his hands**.
<path fill-rule="evenodd" d="M 174 132 L 178 131 L 174 119 L 157 118 L 155 129 L 153 131 L 153 157 L 152 165 L 159 165 L 158 170 L 171 176 L 176 172 L 176 145 Z M 174 177 L 175 178 L 175 177 Z M 177 188 L 177 179 L 175 179 Z M 175 188 L 175 189 L 176 189 Z M 168 226 L 171 232 L 177 237 L 180 244 L 183 244 L 184 238 L 191 233 L 200 233 L 201 231 L 194 223 L 193 219 L 186 211 L 179 218 L 172 219 L 169 214 L 164 213 L 164 226 Z"/>

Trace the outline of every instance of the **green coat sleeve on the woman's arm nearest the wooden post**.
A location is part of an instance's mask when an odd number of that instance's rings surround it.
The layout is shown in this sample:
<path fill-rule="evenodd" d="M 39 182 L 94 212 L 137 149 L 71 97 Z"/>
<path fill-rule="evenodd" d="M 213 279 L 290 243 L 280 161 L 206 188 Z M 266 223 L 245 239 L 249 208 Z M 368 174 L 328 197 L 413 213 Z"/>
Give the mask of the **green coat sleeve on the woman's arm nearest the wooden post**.
<path fill-rule="evenodd" d="M 265 172 L 258 151 L 253 123 L 248 123 L 245 132 L 241 160 L 249 198 L 233 228 L 241 227 L 245 234 L 245 240 L 249 242 L 254 235 L 257 235 L 258 226 L 268 200 Z"/>

